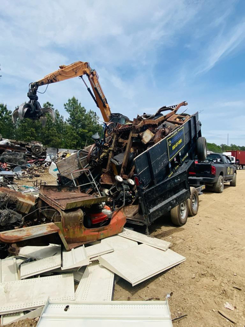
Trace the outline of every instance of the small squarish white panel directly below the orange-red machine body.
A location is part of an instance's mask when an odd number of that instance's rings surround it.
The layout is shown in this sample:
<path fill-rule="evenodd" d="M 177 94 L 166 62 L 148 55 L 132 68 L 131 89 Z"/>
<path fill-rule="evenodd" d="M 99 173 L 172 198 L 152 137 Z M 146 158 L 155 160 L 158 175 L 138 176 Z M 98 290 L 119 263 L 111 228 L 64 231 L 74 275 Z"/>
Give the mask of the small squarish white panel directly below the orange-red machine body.
<path fill-rule="evenodd" d="M 89 265 L 89 259 L 87 258 L 84 245 L 71 249 L 70 251 L 66 251 L 65 249 L 62 251 L 62 270 L 87 265 Z"/>

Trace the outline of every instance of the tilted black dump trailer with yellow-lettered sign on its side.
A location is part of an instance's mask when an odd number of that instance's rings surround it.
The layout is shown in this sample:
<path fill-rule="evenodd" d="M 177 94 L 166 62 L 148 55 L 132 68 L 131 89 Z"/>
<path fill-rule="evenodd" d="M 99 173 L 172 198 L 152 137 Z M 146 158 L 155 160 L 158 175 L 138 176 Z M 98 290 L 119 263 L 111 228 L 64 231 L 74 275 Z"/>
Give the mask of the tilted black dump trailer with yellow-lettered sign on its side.
<path fill-rule="evenodd" d="M 137 214 L 126 213 L 127 221 L 150 225 L 170 212 L 174 224 L 181 226 L 198 212 L 203 185 L 191 185 L 188 170 L 195 155 L 205 160 L 206 139 L 201 134 L 198 112 L 180 127 L 134 159 L 138 192 Z"/>

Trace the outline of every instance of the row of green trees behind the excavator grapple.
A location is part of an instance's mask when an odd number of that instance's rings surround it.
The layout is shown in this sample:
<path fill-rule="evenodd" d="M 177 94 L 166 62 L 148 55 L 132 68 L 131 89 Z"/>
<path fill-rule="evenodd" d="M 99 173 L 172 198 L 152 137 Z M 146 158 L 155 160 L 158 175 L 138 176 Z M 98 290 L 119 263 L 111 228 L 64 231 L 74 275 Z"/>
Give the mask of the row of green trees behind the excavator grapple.
<path fill-rule="evenodd" d="M 39 141 L 47 147 L 81 149 L 93 143 L 93 134 L 102 131 L 96 113 L 86 110 L 75 97 L 64 104 L 64 109 L 69 114 L 67 119 L 64 119 L 53 104 L 46 102 L 43 107 L 50 107 L 55 111 L 55 123 L 47 114 L 45 127 L 42 127 L 40 121 L 30 119 L 18 119 L 14 125 L 11 120 L 12 111 L 8 110 L 6 104 L 0 103 L 0 133 L 4 138 L 24 142 Z"/>

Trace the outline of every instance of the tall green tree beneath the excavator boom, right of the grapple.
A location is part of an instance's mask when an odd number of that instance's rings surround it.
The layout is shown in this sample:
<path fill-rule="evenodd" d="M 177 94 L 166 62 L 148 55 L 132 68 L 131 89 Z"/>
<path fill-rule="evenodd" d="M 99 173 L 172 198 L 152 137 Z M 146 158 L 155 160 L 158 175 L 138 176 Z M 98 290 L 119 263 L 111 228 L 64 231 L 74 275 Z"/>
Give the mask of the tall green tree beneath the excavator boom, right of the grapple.
<path fill-rule="evenodd" d="M 91 136 L 102 132 L 99 118 L 92 110 L 86 111 L 75 97 L 68 99 L 64 104 L 65 110 L 69 113 L 66 120 L 66 141 L 65 147 L 69 149 L 80 149 L 87 144 L 93 143 Z"/>

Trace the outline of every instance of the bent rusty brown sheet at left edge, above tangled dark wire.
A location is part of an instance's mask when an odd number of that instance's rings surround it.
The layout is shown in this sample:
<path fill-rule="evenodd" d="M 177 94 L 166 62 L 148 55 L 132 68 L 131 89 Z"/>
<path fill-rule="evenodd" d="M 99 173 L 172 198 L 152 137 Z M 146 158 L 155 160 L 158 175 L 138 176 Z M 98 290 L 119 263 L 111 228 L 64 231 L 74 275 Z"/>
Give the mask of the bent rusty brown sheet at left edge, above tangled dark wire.
<path fill-rule="evenodd" d="M 28 194 L 23 194 L 18 191 L 10 190 L 9 188 L 0 188 L 0 192 L 12 194 L 18 199 L 17 212 L 22 214 L 28 214 L 31 207 L 36 203 L 36 197 Z"/>

